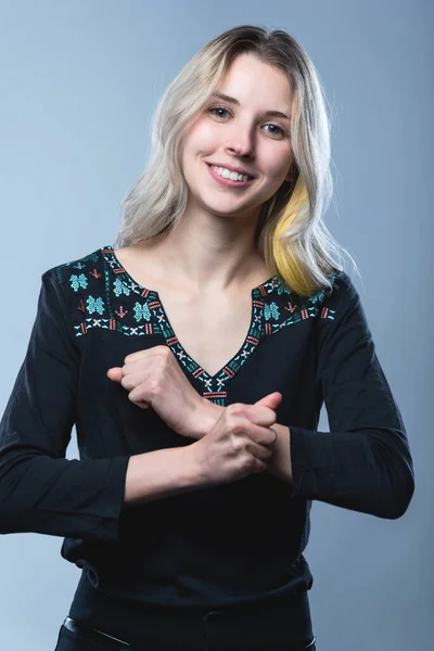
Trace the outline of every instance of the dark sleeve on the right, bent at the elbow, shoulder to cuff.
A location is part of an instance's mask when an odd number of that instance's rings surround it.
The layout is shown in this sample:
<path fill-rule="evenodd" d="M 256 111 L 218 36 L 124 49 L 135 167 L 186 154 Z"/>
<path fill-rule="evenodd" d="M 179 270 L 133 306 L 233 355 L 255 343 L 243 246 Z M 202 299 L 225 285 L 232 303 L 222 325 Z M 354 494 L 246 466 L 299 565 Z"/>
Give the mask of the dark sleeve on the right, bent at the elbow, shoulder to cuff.
<path fill-rule="evenodd" d="M 397 519 L 414 492 L 399 409 L 346 273 L 320 307 L 317 391 L 330 432 L 290 426 L 293 495 Z"/>

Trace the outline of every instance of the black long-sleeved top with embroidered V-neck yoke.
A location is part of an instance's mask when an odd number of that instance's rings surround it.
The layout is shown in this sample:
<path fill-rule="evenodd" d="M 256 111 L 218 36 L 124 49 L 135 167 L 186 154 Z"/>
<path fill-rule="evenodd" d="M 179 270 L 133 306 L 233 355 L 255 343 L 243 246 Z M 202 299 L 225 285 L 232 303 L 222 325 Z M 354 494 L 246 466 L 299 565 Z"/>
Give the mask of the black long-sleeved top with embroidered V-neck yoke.
<path fill-rule="evenodd" d="M 242 347 L 208 375 L 158 293 L 135 282 L 112 246 L 46 271 L 0 425 L 0 532 L 63 536 L 62 556 L 97 590 L 148 604 L 218 608 L 309 589 L 311 500 L 396 519 L 414 488 L 359 295 L 345 272 L 332 281 L 332 292 L 308 298 L 278 277 L 254 288 Z M 131 455 L 193 443 L 106 376 L 129 353 L 161 344 L 219 405 L 281 392 L 292 484 L 263 472 L 123 503 Z M 330 432 L 317 431 L 323 400 Z M 65 459 L 74 424 L 79 460 Z"/>

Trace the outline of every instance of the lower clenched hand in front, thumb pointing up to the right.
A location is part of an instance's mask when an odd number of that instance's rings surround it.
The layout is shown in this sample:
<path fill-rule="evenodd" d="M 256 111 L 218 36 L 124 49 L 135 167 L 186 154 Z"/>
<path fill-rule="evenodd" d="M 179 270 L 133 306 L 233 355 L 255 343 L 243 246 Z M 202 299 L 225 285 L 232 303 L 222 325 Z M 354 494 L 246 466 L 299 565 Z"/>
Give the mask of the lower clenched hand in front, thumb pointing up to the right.
<path fill-rule="evenodd" d="M 225 408 L 212 430 L 186 449 L 201 484 L 227 484 L 267 469 L 278 437 L 271 425 L 281 399 L 282 394 L 275 392 L 255 405 Z"/>

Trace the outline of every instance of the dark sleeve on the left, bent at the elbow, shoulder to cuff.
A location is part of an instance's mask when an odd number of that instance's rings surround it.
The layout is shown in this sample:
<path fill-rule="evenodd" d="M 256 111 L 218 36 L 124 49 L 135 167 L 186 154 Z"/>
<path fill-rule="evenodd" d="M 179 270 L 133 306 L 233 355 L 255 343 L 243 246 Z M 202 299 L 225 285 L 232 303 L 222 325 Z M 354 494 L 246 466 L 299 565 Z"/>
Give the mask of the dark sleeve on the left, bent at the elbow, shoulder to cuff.
<path fill-rule="evenodd" d="M 65 459 L 79 349 L 53 269 L 41 280 L 27 353 L 0 423 L 0 533 L 115 540 L 129 457 Z"/>

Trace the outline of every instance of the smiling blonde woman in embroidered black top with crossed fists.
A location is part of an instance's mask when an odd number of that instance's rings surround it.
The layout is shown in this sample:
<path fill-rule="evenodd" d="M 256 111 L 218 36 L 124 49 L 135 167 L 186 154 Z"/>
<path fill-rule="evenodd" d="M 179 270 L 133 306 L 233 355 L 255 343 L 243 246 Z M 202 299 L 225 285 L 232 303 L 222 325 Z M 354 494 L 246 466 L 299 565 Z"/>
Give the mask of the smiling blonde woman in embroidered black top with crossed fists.
<path fill-rule="evenodd" d="M 307 54 L 235 27 L 162 98 L 117 248 L 42 275 L 0 523 L 63 536 L 82 569 L 58 651 L 314 651 L 311 500 L 405 513 L 412 459 L 322 221 L 329 165 Z"/>

